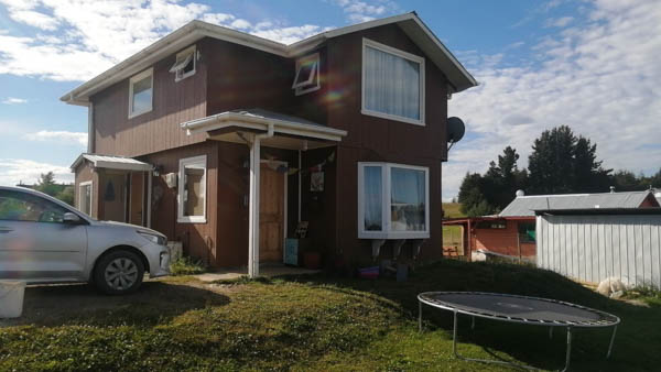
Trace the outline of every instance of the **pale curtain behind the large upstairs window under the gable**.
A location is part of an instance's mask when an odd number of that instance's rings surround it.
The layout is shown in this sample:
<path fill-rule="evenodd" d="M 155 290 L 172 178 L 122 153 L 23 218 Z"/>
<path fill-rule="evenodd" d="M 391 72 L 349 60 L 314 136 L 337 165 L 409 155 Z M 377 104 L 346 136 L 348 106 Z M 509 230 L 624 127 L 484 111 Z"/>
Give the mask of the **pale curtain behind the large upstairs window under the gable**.
<path fill-rule="evenodd" d="M 420 65 L 366 46 L 365 108 L 420 120 Z"/>

